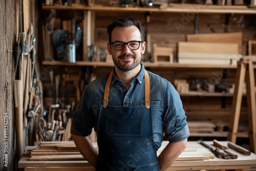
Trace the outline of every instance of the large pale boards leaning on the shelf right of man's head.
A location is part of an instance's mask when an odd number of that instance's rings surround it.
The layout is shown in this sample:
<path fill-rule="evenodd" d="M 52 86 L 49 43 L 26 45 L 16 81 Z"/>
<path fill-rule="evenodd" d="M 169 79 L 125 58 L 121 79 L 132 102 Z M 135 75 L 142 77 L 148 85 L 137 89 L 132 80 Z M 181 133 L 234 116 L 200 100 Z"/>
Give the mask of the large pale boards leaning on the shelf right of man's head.
<path fill-rule="evenodd" d="M 178 62 L 198 65 L 237 65 L 242 33 L 188 34 L 178 43 Z"/>

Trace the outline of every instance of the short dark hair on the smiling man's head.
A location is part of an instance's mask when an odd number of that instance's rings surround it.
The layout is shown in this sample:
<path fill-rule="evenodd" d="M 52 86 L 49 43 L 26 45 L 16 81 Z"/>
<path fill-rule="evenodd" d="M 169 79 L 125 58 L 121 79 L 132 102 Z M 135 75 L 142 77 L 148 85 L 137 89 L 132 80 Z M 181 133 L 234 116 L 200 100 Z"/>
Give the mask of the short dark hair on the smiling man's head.
<path fill-rule="evenodd" d="M 115 27 L 128 27 L 128 26 L 136 26 L 140 31 L 141 41 L 144 41 L 144 37 L 145 37 L 144 28 L 138 19 L 119 18 L 115 20 L 115 22 L 107 26 L 106 32 L 109 34 L 109 42 L 111 42 L 111 34 Z"/>

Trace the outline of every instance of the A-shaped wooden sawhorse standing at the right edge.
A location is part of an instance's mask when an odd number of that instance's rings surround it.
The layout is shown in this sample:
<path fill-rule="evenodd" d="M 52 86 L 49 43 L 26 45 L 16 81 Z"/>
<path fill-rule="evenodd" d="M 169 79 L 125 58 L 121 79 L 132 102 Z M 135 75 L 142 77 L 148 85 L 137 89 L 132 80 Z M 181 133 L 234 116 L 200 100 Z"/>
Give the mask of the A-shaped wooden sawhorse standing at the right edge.
<path fill-rule="evenodd" d="M 254 70 L 251 58 L 241 58 L 238 61 L 227 140 L 233 143 L 236 143 L 237 140 L 244 82 L 246 82 L 250 148 L 253 153 L 256 153 L 256 102 Z"/>

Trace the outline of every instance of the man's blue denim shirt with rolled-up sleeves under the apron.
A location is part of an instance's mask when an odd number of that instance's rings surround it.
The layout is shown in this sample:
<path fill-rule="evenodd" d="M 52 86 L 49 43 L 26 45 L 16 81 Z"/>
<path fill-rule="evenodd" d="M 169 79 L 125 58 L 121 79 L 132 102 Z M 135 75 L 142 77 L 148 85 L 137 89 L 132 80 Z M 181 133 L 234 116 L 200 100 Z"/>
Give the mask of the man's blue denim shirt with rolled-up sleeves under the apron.
<path fill-rule="evenodd" d="M 141 63 L 141 71 L 132 80 L 129 90 L 114 72 L 110 86 L 109 105 L 145 105 L 144 69 Z M 156 148 L 161 146 L 164 135 L 169 142 L 187 139 L 189 130 L 178 92 L 166 79 L 151 72 L 148 74 L 150 76 L 150 105 Z M 97 133 L 100 106 L 103 105 L 104 88 L 108 77 L 109 74 L 99 77 L 84 89 L 81 100 L 72 114 L 71 134 L 89 136 L 93 127 Z"/>

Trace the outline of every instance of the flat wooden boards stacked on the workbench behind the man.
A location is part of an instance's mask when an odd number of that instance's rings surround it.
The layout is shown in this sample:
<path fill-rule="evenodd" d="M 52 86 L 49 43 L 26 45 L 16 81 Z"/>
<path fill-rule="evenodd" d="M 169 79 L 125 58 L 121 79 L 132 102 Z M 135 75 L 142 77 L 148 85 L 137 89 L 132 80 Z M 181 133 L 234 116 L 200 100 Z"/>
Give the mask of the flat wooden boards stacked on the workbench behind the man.
<path fill-rule="evenodd" d="M 167 141 L 163 141 L 157 155 L 162 152 L 167 143 Z M 98 151 L 97 143 L 93 142 L 92 144 Z M 45 141 L 41 143 L 40 148 L 28 150 L 28 156 L 30 161 L 84 160 L 73 141 Z M 207 149 L 185 149 L 177 161 L 208 160 L 213 158 L 214 155 Z"/>

